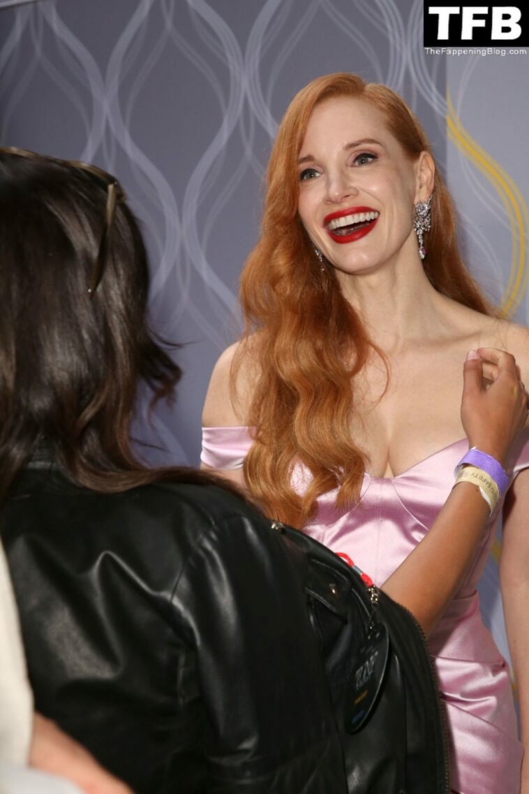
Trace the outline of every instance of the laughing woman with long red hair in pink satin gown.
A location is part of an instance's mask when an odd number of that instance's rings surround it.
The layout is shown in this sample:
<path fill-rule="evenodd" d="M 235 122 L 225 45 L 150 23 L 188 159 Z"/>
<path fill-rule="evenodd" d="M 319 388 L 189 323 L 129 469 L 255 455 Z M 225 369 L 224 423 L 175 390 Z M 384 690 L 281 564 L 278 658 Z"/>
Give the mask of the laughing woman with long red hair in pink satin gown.
<path fill-rule="evenodd" d="M 466 271 L 430 145 L 389 88 L 328 75 L 293 99 L 240 296 L 246 330 L 213 372 L 203 463 L 416 615 L 447 706 L 453 791 L 519 794 L 508 666 L 476 585 L 503 507 L 501 584 L 527 731 L 529 436 L 509 453 L 494 411 L 486 439 L 473 417 L 508 372 L 524 393 L 529 333 L 496 317 Z M 465 359 L 483 384 L 461 403 Z M 527 794 L 529 762 L 522 779 Z"/>

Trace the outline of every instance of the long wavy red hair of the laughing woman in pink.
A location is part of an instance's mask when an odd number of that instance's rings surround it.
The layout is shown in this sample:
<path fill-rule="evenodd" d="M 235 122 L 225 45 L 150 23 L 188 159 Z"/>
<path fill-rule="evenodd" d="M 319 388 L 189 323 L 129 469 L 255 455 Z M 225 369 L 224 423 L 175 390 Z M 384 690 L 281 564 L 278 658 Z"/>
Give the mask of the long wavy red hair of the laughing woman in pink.
<path fill-rule="evenodd" d="M 232 384 L 251 348 L 259 371 L 247 414 L 255 441 L 244 475 L 268 515 L 297 527 L 315 514 L 316 499 L 328 491 L 336 489 L 338 506 L 358 500 L 365 459 L 351 438 L 351 384 L 370 350 L 377 349 L 343 298 L 332 268 L 320 272 L 297 214 L 297 156 L 310 115 L 320 102 L 337 96 L 372 102 L 411 160 L 431 153 L 424 130 L 398 94 L 347 73 L 309 83 L 279 127 L 266 172 L 261 236 L 241 276 L 246 325 Z M 435 289 L 489 313 L 458 252 L 454 207 L 439 171 L 427 249 L 424 268 Z M 302 495 L 291 484 L 297 463 L 312 475 Z"/>

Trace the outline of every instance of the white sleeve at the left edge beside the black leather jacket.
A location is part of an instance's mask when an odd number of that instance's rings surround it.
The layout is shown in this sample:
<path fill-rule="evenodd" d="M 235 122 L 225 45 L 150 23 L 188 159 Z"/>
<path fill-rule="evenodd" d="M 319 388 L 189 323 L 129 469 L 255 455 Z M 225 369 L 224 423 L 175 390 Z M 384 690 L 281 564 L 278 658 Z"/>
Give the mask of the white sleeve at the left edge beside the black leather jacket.
<path fill-rule="evenodd" d="M 0 543 L 0 761 L 25 764 L 32 730 L 33 694 L 10 574 Z"/>

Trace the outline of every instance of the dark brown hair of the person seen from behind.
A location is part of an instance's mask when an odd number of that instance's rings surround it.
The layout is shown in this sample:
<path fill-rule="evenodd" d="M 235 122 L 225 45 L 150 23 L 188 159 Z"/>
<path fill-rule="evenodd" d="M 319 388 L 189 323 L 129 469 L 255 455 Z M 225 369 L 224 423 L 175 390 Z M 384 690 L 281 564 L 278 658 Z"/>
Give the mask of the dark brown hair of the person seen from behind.
<path fill-rule="evenodd" d="M 171 400 L 181 372 L 148 328 L 147 255 L 125 202 L 88 295 L 106 198 L 100 180 L 67 161 L 0 152 L 0 499 L 43 442 L 67 476 L 96 491 L 213 481 L 148 470 L 132 453 L 137 380 L 154 401 Z"/>

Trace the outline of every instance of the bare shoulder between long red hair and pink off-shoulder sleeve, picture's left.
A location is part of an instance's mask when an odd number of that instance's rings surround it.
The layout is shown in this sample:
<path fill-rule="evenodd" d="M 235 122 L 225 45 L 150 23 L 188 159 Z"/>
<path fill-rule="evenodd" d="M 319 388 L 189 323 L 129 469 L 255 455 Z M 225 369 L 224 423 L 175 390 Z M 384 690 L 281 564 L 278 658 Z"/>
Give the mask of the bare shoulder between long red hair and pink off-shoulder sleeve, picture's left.
<path fill-rule="evenodd" d="M 221 353 L 205 396 L 202 425 L 231 427 L 247 424 L 247 408 L 257 374 L 251 339 L 236 342 Z M 236 365 L 234 367 L 234 364 Z"/>

